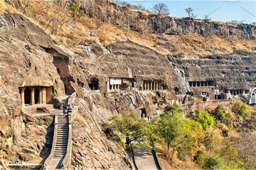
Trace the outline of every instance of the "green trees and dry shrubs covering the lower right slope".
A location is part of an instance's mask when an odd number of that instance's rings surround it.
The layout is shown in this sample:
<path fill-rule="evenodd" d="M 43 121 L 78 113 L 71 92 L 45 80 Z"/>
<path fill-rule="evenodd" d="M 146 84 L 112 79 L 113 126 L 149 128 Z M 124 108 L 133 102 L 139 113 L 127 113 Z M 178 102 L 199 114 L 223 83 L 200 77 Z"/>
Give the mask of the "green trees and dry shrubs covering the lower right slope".
<path fill-rule="evenodd" d="M 237 116 L 242 116 L 238 103 L 234 103 L 233 108 L 238 111 L 235 112 Z M 165 111 L 151 122 L 137 118 L 132 112 L 119 114 L 111 117 L 104 128 L 117 133 L 123 146 L 126 145 L 125 137 L 129 137 L 129 144 L 154 147 L 170 164 L 177 158 L 185 167 L 187 160 L 192 160 L 205 169 L 255 168 L 254 145 L 249 145 L 255 134 L 234 133 L 234 119 L 229 108 L 218 105 L 212 111 L 195 110 L 191 119 L 184 118 L 178 105 L 168 105 Z M 252 151 L 248 151 L 250 148 Z"/>

